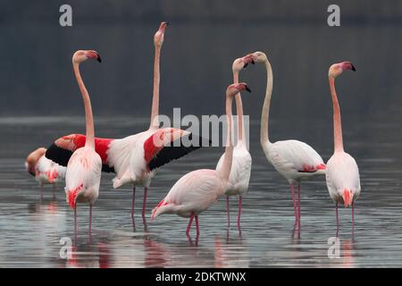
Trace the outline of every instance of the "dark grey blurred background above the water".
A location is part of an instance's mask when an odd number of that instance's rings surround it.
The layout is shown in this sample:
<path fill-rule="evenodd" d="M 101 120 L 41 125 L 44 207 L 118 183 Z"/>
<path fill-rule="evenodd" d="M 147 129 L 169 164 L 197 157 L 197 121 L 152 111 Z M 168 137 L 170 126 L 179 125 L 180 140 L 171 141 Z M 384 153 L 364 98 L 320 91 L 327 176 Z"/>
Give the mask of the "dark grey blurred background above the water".
<path fill-rule="evenodd" d="M 59 24 L 62 4 L 71 4 L 72 27 Z M 340 27 L 327 25 L 330 4 L 340 6 Z M 357 71 L 337 80 L 344 126 L 402 120 L 401 1 L 70 0 L 0 3 L 3 122 L 84 116 L 71 68 L 78 49 L 95 49 L 103 59 L 81 65 L 96 124 L 121 116 L 147 121 L 153 37 L 161 21 L 171 25 L 161 56 L 160 114 L 172 115 L 173 107 L 180 107 L 182 116 L 223 114 L 231 63 L 260 50 L 272 63 L 271 119 L 281 120 L 275 130 L 297 130 L 305 136 L 301 139 L 330 143 L 328 68 L 345 60 Z M 250 66 L 240 80 L 253 90 L 243 96 L 244 113 L 259 122 L 264 65 Z M 303 132 L 309 128 L 305 121 L 328 123 L 328 130 L 309 135 Z M 359 131 L 372 139 L 381 136 Z M 348 128 L 344 132 L 348 137 Z"/>

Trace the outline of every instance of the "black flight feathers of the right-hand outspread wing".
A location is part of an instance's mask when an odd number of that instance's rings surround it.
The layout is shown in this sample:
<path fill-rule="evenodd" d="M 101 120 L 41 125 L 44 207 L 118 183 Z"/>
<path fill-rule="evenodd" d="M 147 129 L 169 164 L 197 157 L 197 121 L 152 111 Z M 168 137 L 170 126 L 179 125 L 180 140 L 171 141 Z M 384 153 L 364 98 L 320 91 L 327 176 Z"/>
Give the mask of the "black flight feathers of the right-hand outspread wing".
<path fill-rule="evenodd" d="M 155 170 L 164 164 L 177 160 L 182 156 L 188 155 L 200 147 L 210 146 L 211 140 L 204 139 L 193 133 L 187 133 L 181 136 L 179 139 L 174 139 L 169 144 L 166 144 L 155 152 L 153 157 L 148 162 L 149 171 Z"/>

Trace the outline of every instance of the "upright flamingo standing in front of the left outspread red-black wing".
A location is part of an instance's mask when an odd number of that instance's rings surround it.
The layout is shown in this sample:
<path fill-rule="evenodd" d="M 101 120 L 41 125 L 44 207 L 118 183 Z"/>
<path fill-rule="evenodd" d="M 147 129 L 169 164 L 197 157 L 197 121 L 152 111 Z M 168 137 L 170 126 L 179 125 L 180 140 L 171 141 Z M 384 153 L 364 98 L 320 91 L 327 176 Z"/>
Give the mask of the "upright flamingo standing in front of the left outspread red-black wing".
<path fill-rule="evenodd" d="M 96 51 L 77 51 L 72 55 L 72 68 L 80 87 L 85 106 L 86 140 L 85 146 L 74 151 L 65 172 L 65 194 L 67 203 L 74 210 L 74 233 L 77 233 L 77 202 L 89 204 L 89 234 L 91 233 L 92 206 L 99 196 L 102 159 L 95 151 L 95 130 L 92 107 L 87 88 L 80 75 L 80 63 L 101 58 Z"/>

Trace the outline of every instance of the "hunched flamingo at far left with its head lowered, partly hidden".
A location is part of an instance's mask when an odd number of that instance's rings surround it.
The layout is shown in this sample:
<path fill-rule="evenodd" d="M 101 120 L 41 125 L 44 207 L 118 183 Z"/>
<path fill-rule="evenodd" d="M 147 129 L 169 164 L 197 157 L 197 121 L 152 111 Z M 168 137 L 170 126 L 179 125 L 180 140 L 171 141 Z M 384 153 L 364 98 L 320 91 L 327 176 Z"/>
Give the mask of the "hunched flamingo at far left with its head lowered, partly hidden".
<path fill-rule="evenodd" d="M 38 147 L 25 160 L 25 168 L 38 181 L 42 193 L 44 184 L 55 184 L 63 181 L 66 168 L 54 163 L 45 156 L 46 148 Z"/>

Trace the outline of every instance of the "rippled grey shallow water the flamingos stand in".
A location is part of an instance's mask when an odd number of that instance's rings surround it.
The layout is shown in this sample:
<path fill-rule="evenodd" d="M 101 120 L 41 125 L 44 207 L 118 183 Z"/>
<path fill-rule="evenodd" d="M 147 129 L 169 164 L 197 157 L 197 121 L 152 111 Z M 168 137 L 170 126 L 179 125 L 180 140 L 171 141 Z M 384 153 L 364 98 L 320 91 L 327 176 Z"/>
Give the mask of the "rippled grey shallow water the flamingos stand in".
<path fill-rule="evenodd" d="M 96 118 L 96 133 L 119 137 L 147 126 L 135 118 Z M 138 188 L 135 228 L 130 218 L 131 190 L 113 190 L 113 175 L 102 177 L 101 193 L 94 207 L 93 232 L 88 236 L 88 206 L 79 206 L 79 234 L 74 240 L 73 216 L 65 203 L 63 186 L 53 192 L 45 187 L 43 198 L 36 181 L 24 171 L 29 151 L 49 145 L 63 134 L 82 130 L 83 118 L 3 118 L 0 148 L 0 267 L 366 267 L 402 266 L 400 222 L 402 165 L 398 124 L 362 123 L 344 128 L 345 144 L 360 168 L 362 194 L 356 202 L 356 226 L 351 232 L 350 209 L 339 209 L 340 257 L 328 257 L 328 240 L 336 235 L 334 205 L 324 178 L 302 185 L 301 230 L 294 231 L 289 186 L 267 164 L 259 146 L 259 123 L 251 123 L 253 170 L 243 200 L 241 234 L 236 230 L 237 201 L 230 198 L 232 225 L 227 231 L 225 201 L 220 199 L 200 215 L 201 236 L 192 232 L 188 221 L 163 215 L 150 222 L 151 209 L 184 173 L 199 167 L 214 168 L 222 148 L 205 147 L 163 166 L 148 192 L 147 226 L 140 215 L 142 189 Z M 281 128 L 289 122 L 271 124 L 274 138 L 289 138 Z M 331 134 L 328 125 L 299 121 L 304 126 L 291 130 L 294 138 L 306 139 L 323 159 L 331 156 L 331 136 L 315 139 L 314 134 Z M 331 125 L 330 125 L 331 126 Z M 362 130 L 381 133 L 367 144 Z M 318 135 L 317 135 L 318 136 Z M 381 152 L 379 152 L 381 149 Z M 62 238 L 71 238 L 72 257 L 60 257 Z"/>

